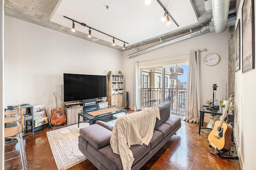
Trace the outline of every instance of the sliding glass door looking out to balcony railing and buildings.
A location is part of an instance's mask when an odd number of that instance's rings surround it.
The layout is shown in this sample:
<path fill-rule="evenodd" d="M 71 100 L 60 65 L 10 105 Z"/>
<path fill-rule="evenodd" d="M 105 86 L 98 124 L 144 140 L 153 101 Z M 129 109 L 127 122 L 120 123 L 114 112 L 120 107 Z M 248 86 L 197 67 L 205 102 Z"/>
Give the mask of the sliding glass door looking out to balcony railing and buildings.
<path fill-rule="evenodd" d="M 171 103 L 171 114 L 185 115 L 188 63 L 143 68 L 141 71 L 140 105 L 148 107 Z"/>

